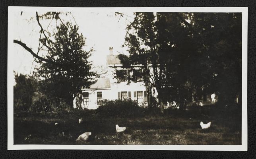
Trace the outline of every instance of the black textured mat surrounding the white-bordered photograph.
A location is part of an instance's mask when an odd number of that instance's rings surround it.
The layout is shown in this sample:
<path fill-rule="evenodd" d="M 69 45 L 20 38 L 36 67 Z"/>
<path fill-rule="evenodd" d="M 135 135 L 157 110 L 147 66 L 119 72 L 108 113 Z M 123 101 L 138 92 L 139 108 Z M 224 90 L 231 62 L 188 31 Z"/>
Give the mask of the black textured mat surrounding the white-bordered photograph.
<path fill-rule="evenodd" d="M 59 7 L 248 7 L 248 151 L 110 151 L 21 150 L 7 151 L 7 24 L 8 6 Z M 256 0 L 1 0 L 0 1 L 0 159 L 45 158 L 256 158 Z"/>

